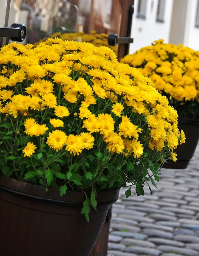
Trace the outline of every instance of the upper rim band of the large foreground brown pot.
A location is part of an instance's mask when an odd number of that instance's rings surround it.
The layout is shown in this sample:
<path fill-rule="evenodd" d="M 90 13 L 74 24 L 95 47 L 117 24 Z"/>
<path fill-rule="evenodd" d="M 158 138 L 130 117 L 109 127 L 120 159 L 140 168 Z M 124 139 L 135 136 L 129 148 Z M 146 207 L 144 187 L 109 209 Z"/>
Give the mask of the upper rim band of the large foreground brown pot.
<path fill-rule="evenodd" d="M 29 198 L 62 204 L 82 204 L 85 200 L 85 194 L 79 191 L 66 191 L 66 194 L 60 196 L 59 189 L 48 188 L 17 180 L 0 174 L 0 189 L 15 193 Z M 90 194 L 88 194 L 88 197 Z M 100 205 L 113 204 L 119 198 L 119 189 L 111 191 L 97 192 L 97 203 Z"/>

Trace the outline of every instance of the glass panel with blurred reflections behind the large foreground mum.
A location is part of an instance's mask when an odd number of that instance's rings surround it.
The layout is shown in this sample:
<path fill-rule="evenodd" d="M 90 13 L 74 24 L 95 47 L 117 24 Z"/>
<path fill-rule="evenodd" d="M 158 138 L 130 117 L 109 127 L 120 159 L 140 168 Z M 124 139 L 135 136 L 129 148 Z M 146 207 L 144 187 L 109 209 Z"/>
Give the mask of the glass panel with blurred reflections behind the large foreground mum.
<path fill-rule="evenodd" d="M 23 44 L 60 37 L 108 46 L 108 34 L 119 35 L 121 17 L 119 0 L 12 0 L 9 26 L 26 25 Z"/>

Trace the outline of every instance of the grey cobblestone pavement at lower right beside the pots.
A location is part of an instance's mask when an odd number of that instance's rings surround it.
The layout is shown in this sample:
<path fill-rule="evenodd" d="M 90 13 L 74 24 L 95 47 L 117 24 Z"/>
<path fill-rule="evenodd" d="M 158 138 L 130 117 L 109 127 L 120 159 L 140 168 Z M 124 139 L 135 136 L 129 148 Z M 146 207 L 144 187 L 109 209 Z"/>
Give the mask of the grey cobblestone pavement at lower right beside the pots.
<path fill-rule="evenodd" d="M 108 256 L 199 256 L 199 144 L 187 169 L 161 176 L 153 195 L 125 198 L 121 189 Z"/>

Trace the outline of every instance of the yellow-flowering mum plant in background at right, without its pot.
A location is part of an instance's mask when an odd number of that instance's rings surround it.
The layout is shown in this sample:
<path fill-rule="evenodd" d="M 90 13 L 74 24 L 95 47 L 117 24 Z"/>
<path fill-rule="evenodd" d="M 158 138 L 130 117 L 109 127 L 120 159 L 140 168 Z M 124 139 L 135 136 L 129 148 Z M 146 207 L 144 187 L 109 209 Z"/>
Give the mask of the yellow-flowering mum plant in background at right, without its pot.
<path fill-rule="evenodd" d="M 151 78 L 179 116 L 199 117 L 199 52 L 160 39 L 121 61 Z"/>

